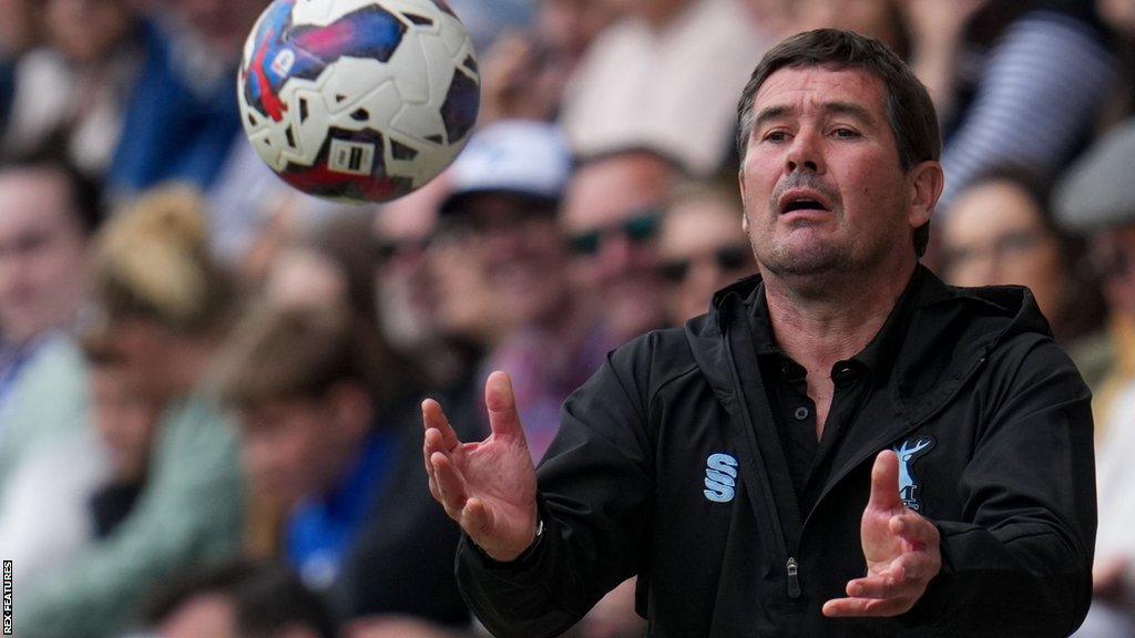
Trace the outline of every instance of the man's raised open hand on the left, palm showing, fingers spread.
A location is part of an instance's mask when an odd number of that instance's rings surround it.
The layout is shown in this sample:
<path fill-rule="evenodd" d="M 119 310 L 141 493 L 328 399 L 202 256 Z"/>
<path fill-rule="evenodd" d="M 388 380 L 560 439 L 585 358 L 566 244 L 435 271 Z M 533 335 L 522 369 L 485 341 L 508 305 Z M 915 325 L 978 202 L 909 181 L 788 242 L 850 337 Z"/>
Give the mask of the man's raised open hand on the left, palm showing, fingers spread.
<path fill-rule="evenodd" d="M 480 443 L 462 443 L 442 406 L 424 401 L 422 453 L 434 498 L 481 551 L 506 562 L 536 538 L 536 468 L 507 375 L 489 375 L 485 404 L 491 434 Z"/>

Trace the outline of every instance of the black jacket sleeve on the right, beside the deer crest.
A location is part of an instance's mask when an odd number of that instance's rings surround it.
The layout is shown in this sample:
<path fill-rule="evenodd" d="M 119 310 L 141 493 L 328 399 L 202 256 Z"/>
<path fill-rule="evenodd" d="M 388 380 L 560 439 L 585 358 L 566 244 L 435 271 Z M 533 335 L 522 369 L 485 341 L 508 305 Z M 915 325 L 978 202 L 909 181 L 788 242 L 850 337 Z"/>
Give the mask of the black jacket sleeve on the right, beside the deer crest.
<path fill-rule="evenodd" d="M 1051 342 L 1024 350 L 991 362 L 990 384 L 975 391 L 990 408 L 957 488 L 961 521 L 934 521 L 942 571 L 907 615 L 913 624 L 951 636 L 1068 636 L 1087 613 L 1091 394 Z"/>

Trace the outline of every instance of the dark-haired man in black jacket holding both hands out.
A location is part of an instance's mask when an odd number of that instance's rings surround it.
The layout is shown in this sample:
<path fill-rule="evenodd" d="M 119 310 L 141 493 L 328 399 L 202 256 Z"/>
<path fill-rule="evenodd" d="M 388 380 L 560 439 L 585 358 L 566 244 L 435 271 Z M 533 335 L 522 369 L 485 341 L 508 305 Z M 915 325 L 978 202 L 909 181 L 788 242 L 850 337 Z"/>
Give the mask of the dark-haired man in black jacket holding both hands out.
<path fill-rule="evenodd" d="M 874 40 L 815 31 L 741 99 L 763 279 L 608 359 L 527 463 L 423 404 L 459 580 L 498 636 L 552 636 L 639 574 L 651 636 L 1065 636 L 1095 529 L 1088 392 L 1023 288 L 917 263 L 942 191 L 925 89 Z M 892 452 L 893 450 L 893 452 Z"/>

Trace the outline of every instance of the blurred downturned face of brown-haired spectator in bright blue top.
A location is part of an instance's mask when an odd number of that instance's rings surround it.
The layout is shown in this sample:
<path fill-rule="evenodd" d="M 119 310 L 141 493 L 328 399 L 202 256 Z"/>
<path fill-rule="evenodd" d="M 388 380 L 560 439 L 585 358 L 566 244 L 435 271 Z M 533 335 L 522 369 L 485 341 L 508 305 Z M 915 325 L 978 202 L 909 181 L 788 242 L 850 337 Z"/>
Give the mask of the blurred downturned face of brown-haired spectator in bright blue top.
<path fill-rule="evenodd" d="M 320 397 L 239 408 L 242 457 L 257 490 L 294 506 L 334 489 L 370 427 L 367 393 L 339 384 Z"/>

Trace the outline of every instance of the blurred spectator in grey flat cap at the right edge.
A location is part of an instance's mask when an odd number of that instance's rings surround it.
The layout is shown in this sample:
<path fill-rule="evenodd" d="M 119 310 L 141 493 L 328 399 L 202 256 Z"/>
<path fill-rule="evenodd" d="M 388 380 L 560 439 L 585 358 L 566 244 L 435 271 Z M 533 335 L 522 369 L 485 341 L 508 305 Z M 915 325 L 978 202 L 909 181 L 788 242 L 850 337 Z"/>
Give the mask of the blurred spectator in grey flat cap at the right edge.
<path fill-rule="evenodd" d="M 1096 423 L 1100 524 L 1093 602 L 1079 638 L 1135 635 L 1135 120 L 1109 134 L 1078 161 L 1056 199 L 1060 223 L 1093 235 L 1110 312 L 1105 373 L 1088 376 Z"/>

